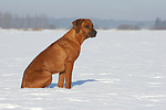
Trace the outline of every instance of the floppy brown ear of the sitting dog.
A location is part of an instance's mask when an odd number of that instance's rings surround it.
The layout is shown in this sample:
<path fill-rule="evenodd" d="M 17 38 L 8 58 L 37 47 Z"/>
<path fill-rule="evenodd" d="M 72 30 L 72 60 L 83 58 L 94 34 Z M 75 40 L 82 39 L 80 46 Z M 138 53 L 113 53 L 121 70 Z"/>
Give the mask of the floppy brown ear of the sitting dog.
<path fill-rule="evenodd" d="M 81 24 L 82 24 L 83 21 L 84 21 L 84 19 L 77 19 L 77 20 L 75 20 L 75 21 L 72 22 L 73 28 L 74 28 L 74 30 L 75 30 L 76 33 L 80 32 Z"/>

